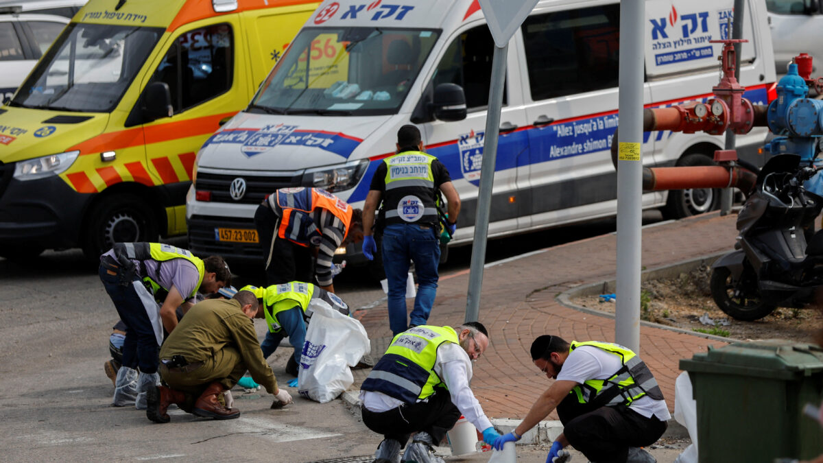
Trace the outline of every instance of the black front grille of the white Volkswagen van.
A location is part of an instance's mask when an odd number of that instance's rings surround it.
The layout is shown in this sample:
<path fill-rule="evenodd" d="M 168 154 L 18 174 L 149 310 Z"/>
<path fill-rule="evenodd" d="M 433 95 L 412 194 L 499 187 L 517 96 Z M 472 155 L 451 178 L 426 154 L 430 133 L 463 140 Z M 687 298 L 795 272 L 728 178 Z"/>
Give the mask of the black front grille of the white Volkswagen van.
<path fill-rule="evenodd" d="M 195 189 L 211 191 L 212 203 L 259 204 L 275 189 L 300 186 L 303 175 L 222 175 L 198 172 Z M 231 182 L 242 178 L 246 182 L 246 194 L 242 199 L 231 199 L 229 188 Z"/>

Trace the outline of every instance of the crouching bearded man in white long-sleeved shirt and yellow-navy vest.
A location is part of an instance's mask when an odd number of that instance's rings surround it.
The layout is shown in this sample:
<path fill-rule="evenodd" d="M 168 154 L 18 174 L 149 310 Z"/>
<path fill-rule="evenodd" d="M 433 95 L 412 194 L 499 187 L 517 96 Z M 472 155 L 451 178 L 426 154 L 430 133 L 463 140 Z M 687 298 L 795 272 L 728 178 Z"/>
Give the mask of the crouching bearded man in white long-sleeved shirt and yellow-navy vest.
<path fill-rule="evenodd" d="M 360 386 L 363 423 L 384 435 L 375 463 L 399 461 L 412 433 L 403 461 L 442 462 L 431 447 L 443 440 L 460 414 L 483 430 L 484 441 L 500 437 L 468 386 L 471 361 L 486 350 L 488 336 L 486 327 L 473 321 L 457 330 L 416 326 L 394 337 Z"/>

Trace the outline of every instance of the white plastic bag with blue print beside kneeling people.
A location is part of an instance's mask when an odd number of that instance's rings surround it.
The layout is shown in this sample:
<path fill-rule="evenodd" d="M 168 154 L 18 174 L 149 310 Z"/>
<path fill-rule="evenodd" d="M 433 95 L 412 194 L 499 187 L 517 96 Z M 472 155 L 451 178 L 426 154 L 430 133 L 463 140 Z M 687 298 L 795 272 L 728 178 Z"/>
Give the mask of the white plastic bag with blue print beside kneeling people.
<path fill-rule="evenodd" d="M 354 367 L 371 347 L 360 321 L 319 299 L 309 302 L 306 311 L 309 308 L 313 314 L 300 355 L 297 391 L 324 404 L 351 386 L 354 377 L 349 367 Z"/>

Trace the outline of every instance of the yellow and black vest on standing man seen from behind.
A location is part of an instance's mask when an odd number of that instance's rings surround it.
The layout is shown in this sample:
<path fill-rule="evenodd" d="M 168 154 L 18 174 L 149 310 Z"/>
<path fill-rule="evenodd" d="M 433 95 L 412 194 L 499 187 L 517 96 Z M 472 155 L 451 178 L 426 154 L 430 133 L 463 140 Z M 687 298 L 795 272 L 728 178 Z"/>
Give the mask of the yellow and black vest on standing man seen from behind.
<path fill-rule="evenodd" d="M 386 225 L 438 222 L 435 176 L 431 171 L 435 159 L 419 151 L 404 151 L 384 159 L 386 192 L 380 215 Z"/>

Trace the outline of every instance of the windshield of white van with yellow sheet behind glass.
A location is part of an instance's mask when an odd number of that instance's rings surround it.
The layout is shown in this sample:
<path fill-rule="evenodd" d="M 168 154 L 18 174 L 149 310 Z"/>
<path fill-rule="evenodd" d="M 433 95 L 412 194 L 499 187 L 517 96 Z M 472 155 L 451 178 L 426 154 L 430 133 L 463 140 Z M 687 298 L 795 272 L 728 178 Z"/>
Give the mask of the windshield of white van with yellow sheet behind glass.
<path fill-rule="evenodd" d="M 248 110 L 395 114 L 438 35 L 439 30 L 306 28 L 291 42 Z"/>

